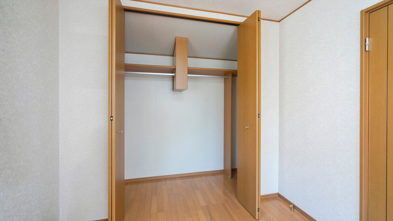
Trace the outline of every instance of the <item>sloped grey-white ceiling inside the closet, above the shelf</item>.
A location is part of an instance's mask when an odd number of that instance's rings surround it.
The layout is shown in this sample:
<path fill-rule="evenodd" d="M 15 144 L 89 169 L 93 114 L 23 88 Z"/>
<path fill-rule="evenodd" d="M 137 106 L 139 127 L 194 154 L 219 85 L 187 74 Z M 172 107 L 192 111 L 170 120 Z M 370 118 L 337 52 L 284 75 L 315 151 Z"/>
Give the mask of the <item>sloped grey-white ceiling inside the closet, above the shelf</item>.
<path fill-rule="evenodd" d="M 172 55 L 188 38 L 188 57 L 237 60 L 237 26 L 144 13 L 125 13 L 125 51 Z"/>

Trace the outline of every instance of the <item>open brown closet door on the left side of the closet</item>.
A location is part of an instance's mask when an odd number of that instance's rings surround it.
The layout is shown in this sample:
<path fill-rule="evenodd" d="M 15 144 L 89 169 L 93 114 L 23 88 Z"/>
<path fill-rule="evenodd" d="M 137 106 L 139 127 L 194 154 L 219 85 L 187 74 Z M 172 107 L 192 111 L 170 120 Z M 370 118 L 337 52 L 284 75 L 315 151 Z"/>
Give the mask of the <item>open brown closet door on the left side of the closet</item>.
<path fill-rule="evenodd" d="M 109 0 L 108 219 L 124 217 L 124 10 Z"/>

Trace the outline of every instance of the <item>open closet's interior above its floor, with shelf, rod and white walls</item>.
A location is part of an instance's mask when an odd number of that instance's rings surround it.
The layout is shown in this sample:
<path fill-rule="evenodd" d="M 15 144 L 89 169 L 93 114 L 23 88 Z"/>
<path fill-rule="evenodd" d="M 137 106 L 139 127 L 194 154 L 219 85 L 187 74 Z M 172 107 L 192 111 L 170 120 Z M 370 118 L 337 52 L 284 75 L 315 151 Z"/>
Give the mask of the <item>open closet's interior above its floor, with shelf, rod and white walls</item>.
<path fill-rule="evenodd" d="M 125 12 L 124 179 L 236 168 L 237 26 Z"/>

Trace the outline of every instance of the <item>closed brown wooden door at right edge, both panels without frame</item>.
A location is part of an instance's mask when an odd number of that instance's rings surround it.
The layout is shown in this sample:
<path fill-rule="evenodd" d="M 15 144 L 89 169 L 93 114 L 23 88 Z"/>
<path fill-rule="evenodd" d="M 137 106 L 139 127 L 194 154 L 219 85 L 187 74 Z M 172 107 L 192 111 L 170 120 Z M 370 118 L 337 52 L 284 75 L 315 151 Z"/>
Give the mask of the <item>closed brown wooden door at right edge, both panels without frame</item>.
<path fill-rule="evenodd" d="M 369 15 L 368 220 L 393 220 L 393 6 Z"/>

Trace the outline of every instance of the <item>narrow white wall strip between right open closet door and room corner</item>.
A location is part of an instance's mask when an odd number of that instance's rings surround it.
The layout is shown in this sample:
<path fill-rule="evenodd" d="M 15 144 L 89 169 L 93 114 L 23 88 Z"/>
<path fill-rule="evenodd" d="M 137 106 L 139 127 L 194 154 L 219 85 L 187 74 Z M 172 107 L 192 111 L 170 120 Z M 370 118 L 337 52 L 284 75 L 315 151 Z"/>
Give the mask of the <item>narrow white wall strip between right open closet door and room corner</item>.
<path fill-rule="evenodd" d="M 260 21 L 260 195 L 278 192 L 279 27 Z"/>

